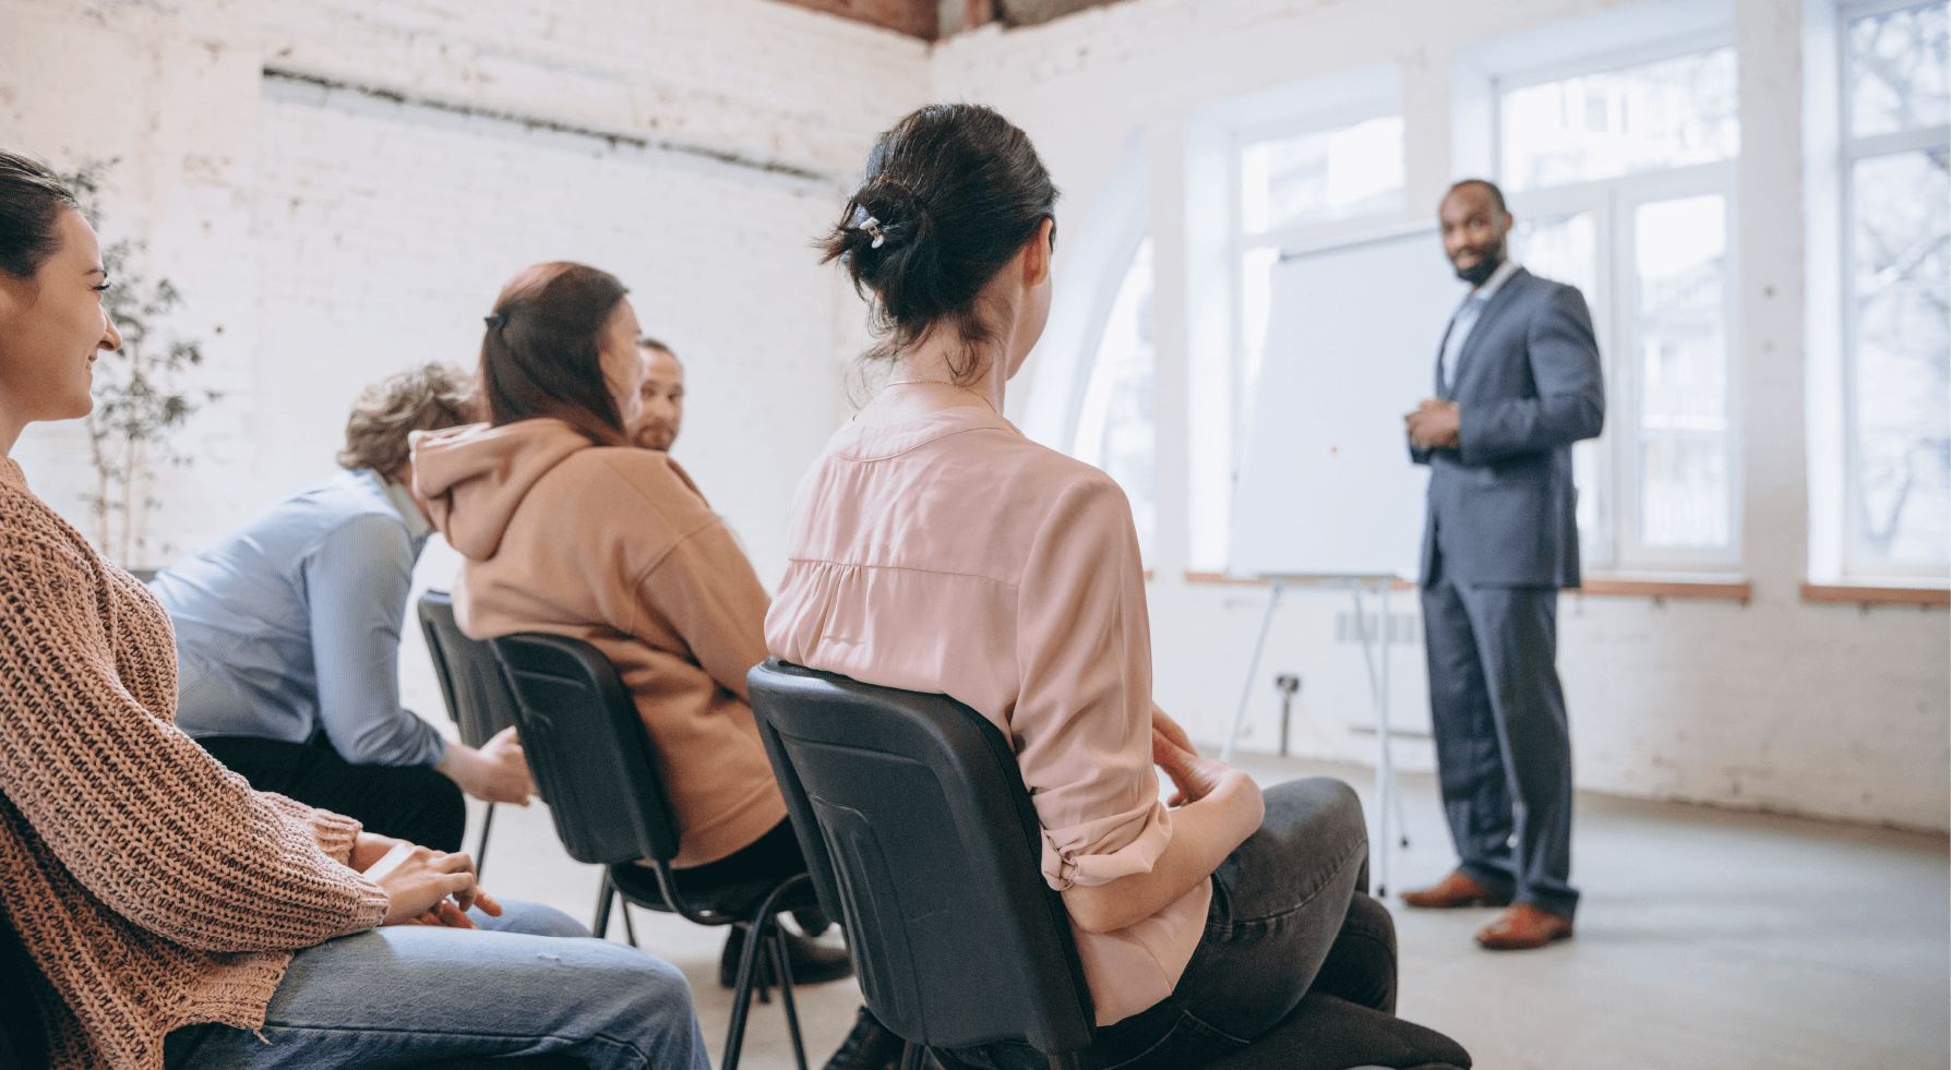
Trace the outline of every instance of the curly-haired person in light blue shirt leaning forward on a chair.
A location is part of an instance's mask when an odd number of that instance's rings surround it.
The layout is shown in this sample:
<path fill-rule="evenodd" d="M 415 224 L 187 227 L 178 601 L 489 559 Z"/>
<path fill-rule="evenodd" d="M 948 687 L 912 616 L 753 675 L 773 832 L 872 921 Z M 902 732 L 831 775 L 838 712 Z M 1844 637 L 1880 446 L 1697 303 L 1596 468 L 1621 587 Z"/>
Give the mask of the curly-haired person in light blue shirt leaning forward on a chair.
<path fill-rule="evenodd" d="M 460 850 L 462 789 L 527 803 L 513 729 L 480 750 L 400 706 L 414 563 L 433 530 L 408 435 L 468 421 L 458 370 L 425 364 L 369 390 L 347 468 L 265 509 L 150 585 L 176 626 L 176 725 L 252 787 Z"/>

